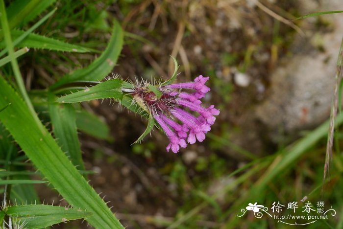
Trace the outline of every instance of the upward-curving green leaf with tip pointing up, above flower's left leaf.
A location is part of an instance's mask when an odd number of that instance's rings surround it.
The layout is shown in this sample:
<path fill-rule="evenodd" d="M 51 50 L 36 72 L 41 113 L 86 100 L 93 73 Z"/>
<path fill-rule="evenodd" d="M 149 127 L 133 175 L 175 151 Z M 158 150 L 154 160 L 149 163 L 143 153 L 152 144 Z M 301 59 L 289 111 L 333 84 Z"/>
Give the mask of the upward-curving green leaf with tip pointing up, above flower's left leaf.
<path fill-rule="evenodd" d="M 50 87 L 54 90 L 63 84 L 78 80 L 102 80 L 114 68 L 123 47 L 123 29 L 118 22 L 114 23 L 112 37 L 105 51 L 91 65 L 84 69 L 77 69 Z"/>

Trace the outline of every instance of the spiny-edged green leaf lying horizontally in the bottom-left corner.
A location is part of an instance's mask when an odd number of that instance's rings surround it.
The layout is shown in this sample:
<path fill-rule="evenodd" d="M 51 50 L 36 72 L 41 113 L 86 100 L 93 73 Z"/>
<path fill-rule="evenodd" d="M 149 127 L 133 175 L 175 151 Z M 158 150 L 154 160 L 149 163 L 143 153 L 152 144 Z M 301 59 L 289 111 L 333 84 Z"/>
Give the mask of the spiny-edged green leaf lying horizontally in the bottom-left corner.
<path fill-rule="evenodd" d="M 87 218 L 92 215 L 80 209 L 50 205 L 9 206 L 5 214 L 11 216 L 14 223 L 25 224 L 25 228 L 45 228 L 70 220 Z"/>

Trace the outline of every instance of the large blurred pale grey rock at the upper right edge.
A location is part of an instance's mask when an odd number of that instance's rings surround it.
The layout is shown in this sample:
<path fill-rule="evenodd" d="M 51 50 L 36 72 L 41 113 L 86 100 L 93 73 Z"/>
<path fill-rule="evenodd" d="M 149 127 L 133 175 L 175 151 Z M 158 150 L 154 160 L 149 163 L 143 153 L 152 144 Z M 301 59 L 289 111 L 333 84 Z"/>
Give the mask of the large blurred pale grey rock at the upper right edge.
<path fill-rule="evenodd" d="M 302 1 L 304 14 L 335 10 L 341 0 Z M 340 3 L 341 2 L 341 3 Z M 307 9 L 311 7 L 309 12 Z M 325 15 L 332 31 L 305 31 L 294 42 L 294 56 L 283 60 L 271 76 L 268 98 L 256 108 L 257 117 L 272 131 L 293 133 L 319 125 L 330 115 L 338 51 L 343 36 L 343 14 Z M 306 19 L 304 19 L 306 20 Z"/>

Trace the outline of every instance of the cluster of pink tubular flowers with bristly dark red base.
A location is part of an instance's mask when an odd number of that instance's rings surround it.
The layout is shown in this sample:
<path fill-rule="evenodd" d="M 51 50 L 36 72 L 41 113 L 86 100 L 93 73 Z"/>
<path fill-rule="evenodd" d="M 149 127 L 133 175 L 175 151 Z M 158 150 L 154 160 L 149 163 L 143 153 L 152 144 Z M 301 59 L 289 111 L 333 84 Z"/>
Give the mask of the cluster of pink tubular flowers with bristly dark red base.
<path fill-rule="evenodd" d="M 199 100 L 210 91 L 210 88 L 205 86 L 208 79 L 209 77 L 199 75 L 194 82 L 159 87 L 158 90 L 162 94 L 160 97 L 148 87 L 140 86 L 133 90 L 133 98 L 153 115 L 169 138 L 167 151 L 172 149 L 173 153 L 177 153 L 180 147 L 185 148 L 186 138 L 190 144 L 194 144 L 196 140 L 201 142 L 211 130 L 211 125 L 216 120 L 215 115 L 219 115 L 220 111 L 214 108 L 214 105 L 202 107 Z M 193 92 L 181 92 L 182 89 Z"/>

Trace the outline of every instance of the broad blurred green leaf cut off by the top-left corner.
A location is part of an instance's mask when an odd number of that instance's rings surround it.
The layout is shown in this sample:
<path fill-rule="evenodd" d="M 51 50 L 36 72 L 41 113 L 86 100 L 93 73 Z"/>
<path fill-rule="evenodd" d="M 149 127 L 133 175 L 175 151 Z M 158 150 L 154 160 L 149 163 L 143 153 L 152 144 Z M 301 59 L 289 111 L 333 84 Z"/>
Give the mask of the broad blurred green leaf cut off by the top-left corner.
<path fill-rule="evenodd" d="M 56 0 L 16 0 L 7 8 L 8 23 L 10 28 L 22 27 L 40 15 Z"/>

